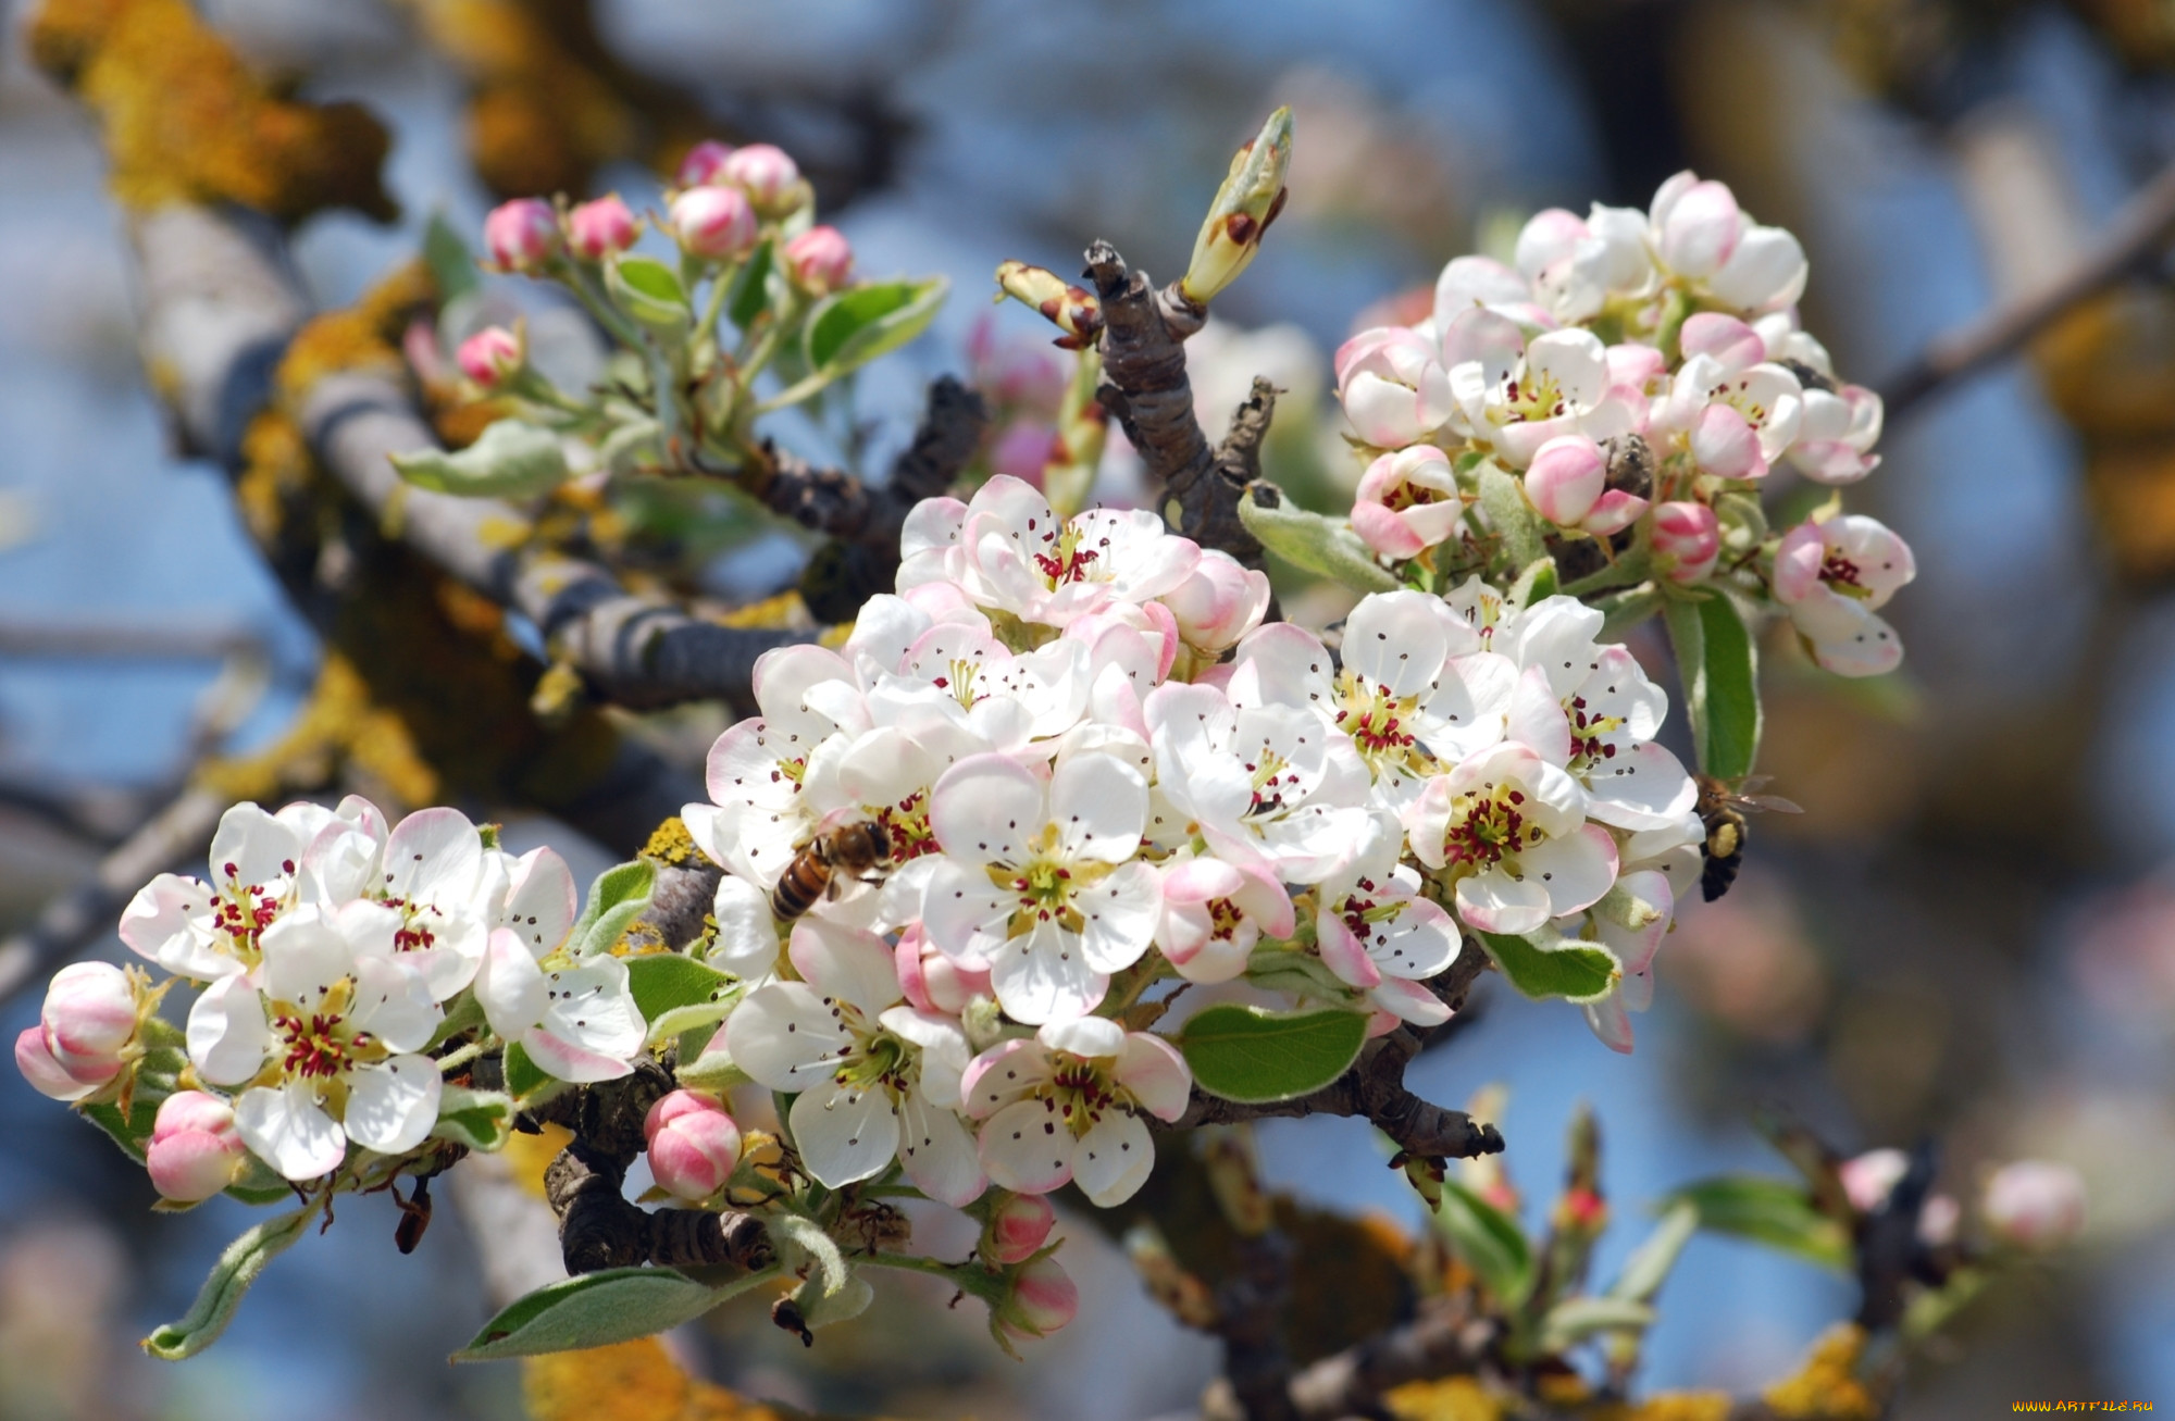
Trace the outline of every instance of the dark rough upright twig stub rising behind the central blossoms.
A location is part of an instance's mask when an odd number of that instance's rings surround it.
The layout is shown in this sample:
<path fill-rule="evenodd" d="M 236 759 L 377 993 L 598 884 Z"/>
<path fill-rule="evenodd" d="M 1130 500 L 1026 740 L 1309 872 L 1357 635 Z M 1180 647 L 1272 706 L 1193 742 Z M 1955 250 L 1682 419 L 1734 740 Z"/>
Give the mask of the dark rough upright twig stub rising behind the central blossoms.
<path fill-rule="evenodd" d="M 1246 567 L 1262 567 L 1262 543 L 1238 521 L 1244 480 L 1235 467 L 1259 471 L 1262 430 L 1275 393 L 1255 382 L 1255 398 L 1242 406 L 1225 448 L 1209 450 L 1194 417 L 1194 387 L 1185 376 L 1188 335 L 1201 328 L 1201 313 L 1185 309 L 1170 291 L 1157 293 L 1146 274 L 1129 272 L 1118 248 L 1096 241 L 1088 248 L 1088 276 L 1103 300 L 1103 385 L 1096 400 L 1118 417 L 1124 437 L 1140 450 L 1157 502 L 1177 502 L 1177 528 L 1203 548 L 1220 548 Z M 1266 393 L 1264 393 L 1266 391 Z M 1246 408 L 1259 404 L 1257 428 L 1246 428 Z M 1166 508 L 1168 517 L 1168 508 Z"/>

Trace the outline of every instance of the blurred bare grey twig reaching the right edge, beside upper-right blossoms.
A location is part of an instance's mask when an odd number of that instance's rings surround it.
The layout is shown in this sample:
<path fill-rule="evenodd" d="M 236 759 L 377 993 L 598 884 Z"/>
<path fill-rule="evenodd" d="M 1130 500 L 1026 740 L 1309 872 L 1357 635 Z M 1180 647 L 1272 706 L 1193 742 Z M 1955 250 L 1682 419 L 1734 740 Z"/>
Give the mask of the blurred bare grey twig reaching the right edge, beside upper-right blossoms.
<path fill-rule="evenodd" d="M 1886 380 L 1881 400 L 1888 419 L 1897 419 L 1955 380 L 2014 354 L 2073 306 L 2136 272 L 2168 239 L 2175 239 L 2175 165 L 2160 169 L 2114 215 L 2099 243 L 2066 276 L 2008 306 L 1988 311 L 1962 330 L 1938 337 L 1916 361 Z"/>

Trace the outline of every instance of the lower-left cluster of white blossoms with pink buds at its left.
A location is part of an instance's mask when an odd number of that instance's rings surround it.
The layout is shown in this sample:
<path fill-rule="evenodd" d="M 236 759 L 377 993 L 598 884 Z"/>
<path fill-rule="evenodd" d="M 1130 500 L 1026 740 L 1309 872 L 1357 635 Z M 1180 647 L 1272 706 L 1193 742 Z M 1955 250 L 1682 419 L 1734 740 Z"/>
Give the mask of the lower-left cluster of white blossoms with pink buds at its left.
<path fill-rule="evenodd" d="M 154 1182 L 200 1199 L 241 1175 L 244 1149 L 296 1182 L 341 1169 L 350 1145 L 415 1149 L 444 1097 L 442 1065 L 424 1052 L 476 1015 L 559 1080 L 624 1076 L 644 1021 L 624 963 L 568 954 L 574 906 L 559 854 L 487 847 L 452 808 L 387 830 L 361 797 L 233 806 L 209 876 L 161 873 L 120 923 L 139 956 L 202 984 L 185 1034 L 198 1089 L 167 1097 L 161 1130 L 167 1115 L 189 1117 L 185 1134 L 226 1145 L 161 1169 L 165 1134 L 154 1134 Z M 141 1056 L 157 995 L 141 973 L 72 967 L 15 1058 L 48 1095 L 85 1099 Z M 124 1004 L 141 1010 L 124 1021 Z M 72 1058 L 50 1043 L 65 1049 L 87 1028 L 98 1041 L 89 1067 L 54 1076 L 48 1062 Z"/>

